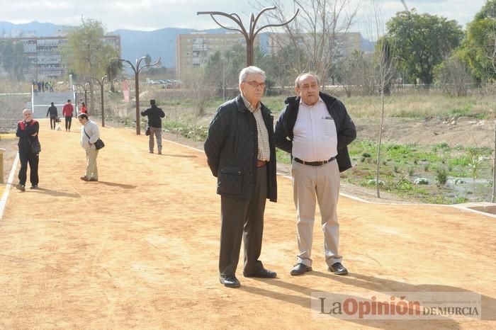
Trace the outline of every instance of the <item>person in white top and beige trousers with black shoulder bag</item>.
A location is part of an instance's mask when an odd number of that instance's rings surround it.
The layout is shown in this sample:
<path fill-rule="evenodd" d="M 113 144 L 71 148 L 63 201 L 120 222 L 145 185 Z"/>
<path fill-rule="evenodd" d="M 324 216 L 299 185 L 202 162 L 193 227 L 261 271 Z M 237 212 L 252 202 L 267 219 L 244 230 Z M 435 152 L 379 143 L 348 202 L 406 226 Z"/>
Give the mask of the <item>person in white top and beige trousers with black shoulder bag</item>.
<path fill-rule="evenodd" d="M 82 181 L 98 181 L 96 157 L 98 157 L 99 148 L 96 147 L 96 141 L 100 140 L 100 131 L 96 123 L 88 119 L 86 113 L 80 113 L 77 119 L 81 123 L 81 147 L 86 152 L 86 173 L 80 179 Z"/>

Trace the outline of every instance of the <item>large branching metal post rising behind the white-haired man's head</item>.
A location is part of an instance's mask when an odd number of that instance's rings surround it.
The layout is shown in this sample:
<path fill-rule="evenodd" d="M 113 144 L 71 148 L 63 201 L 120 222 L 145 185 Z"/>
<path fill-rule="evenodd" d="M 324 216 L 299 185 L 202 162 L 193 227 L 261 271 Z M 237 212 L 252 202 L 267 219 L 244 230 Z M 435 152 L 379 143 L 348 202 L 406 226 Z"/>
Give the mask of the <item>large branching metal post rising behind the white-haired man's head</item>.
<path fill-rule="evenodd" d="M 300 11 L 300 9 L 297 9 L 295 14 L 293 15 L 293 17 L 289 21 L 287 21 L 286 23 L 267 24 L 267 25 L 262 26 L 258 30 L 255 30 L 255 25 L 257 25 L 257 22 L 259 21 L 261 14 L 264 13 L 265 11 L 269 11 L 272 9 L 276 9 L 276 7 L 273 6 L 273 7 L 266 7 L 264 9 L 262 9 L 257 14 L 257 17 L 255 17 L 254 14 L 252 13 L 250 15 L 250 18 L 249 18 L 249 30 L 248 31 L 246 28 L 244 28 L 243 23 L 241 21 L 241 18 L 239 18 L 237 13 L 230 13 L 229 14 L 229 13 L 222 13 L 222 11 L 198 11 L 196 13 L 196 15 L 203 15 L 203 14 L 210 15 L 210 17 L 213 19 L 213 21 L 215 23 L 217 23 L 221 28 L 225 28 L 226 30 L 238 31 L 239 33 L 244 35 L 244 39 L 247 41 L 247 67 L 249 67 L 250 65 L 253 65 L 253 42 L 254 42 L 257 34 L 261 30 L 263 30 L 264 28 L 269 28 L 269 27 L 276 28 L 278 26 L 283 26 L 283 25 L 287 25 L 287 24 L 291 23 L 291 21 L 293 21 L 293 19 L 296 18 L 296 15 L 298 15 L 298 11 Z M 217 21 L 215 19 L 215 17 L 214 17 L 215 15 L 225 16 L 227 18 L 230 18 L 232 21 L 235 21 L 235 23 L 239 26 L 239 28 L 228 28 L 227 26 L 222 25 L 221 23 L 219 23 L 219 21 Z"/>

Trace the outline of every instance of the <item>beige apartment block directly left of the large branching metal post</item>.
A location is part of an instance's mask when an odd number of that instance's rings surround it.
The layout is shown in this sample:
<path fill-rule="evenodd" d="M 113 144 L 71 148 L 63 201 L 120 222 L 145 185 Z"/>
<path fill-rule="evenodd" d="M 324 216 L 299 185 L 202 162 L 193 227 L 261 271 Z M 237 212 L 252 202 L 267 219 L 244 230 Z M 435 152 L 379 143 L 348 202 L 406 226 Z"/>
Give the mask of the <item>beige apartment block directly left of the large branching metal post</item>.
<path fill-rule="evenodd" d="M 177 79 L 183 79 L 185 72 L 196 67 L 205 67 L 208 58 L 215 52 L 231 50 L 234 45 L 246 45 L 241 33 L 227 32 L 209 34 L 193 32 L 176 37 Z M 260 45 L 259 37 L 254 40 L 254 47 Z"/>

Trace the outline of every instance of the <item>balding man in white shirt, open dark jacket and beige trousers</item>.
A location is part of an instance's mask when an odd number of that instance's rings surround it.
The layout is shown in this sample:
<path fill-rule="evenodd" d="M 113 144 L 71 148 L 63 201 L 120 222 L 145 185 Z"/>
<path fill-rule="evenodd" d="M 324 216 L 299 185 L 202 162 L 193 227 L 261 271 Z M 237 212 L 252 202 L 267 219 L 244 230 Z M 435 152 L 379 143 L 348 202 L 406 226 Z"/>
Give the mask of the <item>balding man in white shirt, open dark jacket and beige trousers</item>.
<path fill-rule="evenodd" d="M 329 271 L 346 275 L 339 254 L 337 199 L 339 172 L 351 167 L 347 145 L 356 128 L 337 98 L 320 92 L 317 75 L 300 74 L 295 80 L 297 97 L 286 99 L 276 123 L 276 147 L 291 154 L 293 199 L 298 223 L 297 263 L 291 275 L 312 271 L 312 237 L 316 202 L 322 214 L 325 259 Z"/>

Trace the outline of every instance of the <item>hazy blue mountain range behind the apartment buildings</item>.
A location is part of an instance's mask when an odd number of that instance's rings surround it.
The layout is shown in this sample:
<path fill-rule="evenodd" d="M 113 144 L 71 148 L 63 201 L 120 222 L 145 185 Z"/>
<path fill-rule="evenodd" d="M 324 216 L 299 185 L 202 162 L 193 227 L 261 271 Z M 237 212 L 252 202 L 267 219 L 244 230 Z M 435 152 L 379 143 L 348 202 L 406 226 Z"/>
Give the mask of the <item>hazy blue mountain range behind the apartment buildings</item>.
<path fill-rule="evenodd" d="M 0 37 L 20 37 L 37 36 L 51 37 L 63 35 L 67 30 L 67 26 L 56 25 L 52 23 L 23 23 L 13 24 L 5 21 L 0 21 Z M 225 33 L 222 28 L 202 30 L 206 33 Z M 198 32 L 198 30 L 188 28 L 162 28 L 153 31 L 137 31 L 137 30 L 114 30 L 109 34 L 120 35 L 120 53 L 121 58 L 128 59 L 131 63 L 135 59 L 150 55 L 152 62 L 162 58 L 164 67 L 176 67 L 176 35 Z M 262 47 L 267 45 L 267 37 L 261 33 Z M 373 42 L 362 38 L 361 48 L 363 51 L 373 51 Z"/>

